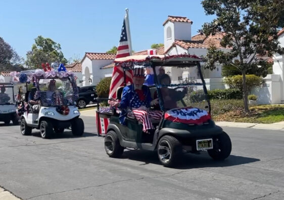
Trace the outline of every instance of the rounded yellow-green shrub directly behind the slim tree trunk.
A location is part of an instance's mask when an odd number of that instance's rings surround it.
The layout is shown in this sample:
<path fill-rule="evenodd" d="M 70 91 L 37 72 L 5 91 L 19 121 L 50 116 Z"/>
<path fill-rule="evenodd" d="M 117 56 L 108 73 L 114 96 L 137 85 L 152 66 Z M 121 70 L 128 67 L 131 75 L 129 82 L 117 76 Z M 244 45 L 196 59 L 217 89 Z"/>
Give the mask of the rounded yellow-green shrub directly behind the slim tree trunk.
<path fill-rule="evenodd" d="M 230 89 L 239 89 L 243 91 L 243 76 L 242 75 L 234 75 L 231 77 L 226 77 L 224 79 L 225 84 L 227 84 Z M 246 85 L 248 93 L 251 91 L 253 87 L 258 87 L 263 83 L 263 79 L 260 76 L 249 74 L 246 75 Z"/>

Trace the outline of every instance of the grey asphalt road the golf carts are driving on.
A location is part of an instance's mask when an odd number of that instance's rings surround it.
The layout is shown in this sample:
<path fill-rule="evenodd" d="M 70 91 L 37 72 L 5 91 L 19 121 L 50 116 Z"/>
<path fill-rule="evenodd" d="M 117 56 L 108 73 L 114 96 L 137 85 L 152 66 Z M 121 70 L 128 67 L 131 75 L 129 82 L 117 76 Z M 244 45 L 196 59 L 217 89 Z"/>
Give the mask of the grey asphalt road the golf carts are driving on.
<path fill-rule="evenodd" d="M 232 140 L 224 162 L 186 154 L 170 169 L 156 152 L 108 157 L 94 117 L 82 118 L 84 137 L 0 125 L 0 186 L 22 199 L 284 199 L 284 132 L 224 128 Z"/>

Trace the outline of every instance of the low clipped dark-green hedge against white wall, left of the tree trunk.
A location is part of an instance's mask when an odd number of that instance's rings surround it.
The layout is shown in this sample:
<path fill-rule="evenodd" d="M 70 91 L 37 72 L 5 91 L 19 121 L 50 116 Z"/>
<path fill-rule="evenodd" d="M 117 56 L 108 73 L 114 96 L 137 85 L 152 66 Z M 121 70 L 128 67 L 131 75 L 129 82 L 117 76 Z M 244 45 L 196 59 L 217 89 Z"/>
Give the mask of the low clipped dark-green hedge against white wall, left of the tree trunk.
<path fill-rule="evenodd" d="M 238 89 L 216 89 L 208 90 L 210 99 L 242 99 L 243 94 Z"/>

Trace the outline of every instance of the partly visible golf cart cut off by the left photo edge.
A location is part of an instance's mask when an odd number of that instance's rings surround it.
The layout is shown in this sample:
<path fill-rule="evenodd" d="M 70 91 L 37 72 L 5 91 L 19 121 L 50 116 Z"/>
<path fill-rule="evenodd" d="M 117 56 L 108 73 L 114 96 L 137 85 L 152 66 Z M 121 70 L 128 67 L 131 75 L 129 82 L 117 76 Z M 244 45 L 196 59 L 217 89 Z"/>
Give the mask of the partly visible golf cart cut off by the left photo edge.
<path fill-rule="evenodd" d="M 13 125 L 18 125 L 19 118 L 16 113 L 14 86 L 11 83 L 0 83 L 0 88 L 0 122 L 9 125 L 12 121 Z"/>

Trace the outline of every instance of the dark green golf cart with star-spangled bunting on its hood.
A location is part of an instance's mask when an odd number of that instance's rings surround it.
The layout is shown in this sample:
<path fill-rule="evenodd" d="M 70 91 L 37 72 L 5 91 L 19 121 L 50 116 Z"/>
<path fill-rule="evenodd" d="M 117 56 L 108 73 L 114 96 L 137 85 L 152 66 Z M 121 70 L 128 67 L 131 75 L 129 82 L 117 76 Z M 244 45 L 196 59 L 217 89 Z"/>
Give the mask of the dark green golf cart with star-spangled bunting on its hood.
<path fill-rule="evenodd" d="M 126 126 L 123 126 L 119 123 L 118 109 L 112 108 L 104 112 L 104 109 L 98 108 L 97 121 L 102 117 L 109 119 L 105 150 L 110 157 L 121 156 L 124 148 L 157 150 L 160 163 L 170 167 L 183 152 L 207 151 L 216 160 L 229 156 L 230 138 L 211 119 L 210 100 L 201 71 L 201 61 L 201 58 L 194 55 L 141 55 L 115 59 L 115 64 L 123 68 L 124 76 L 126 70 L 132 70 L 137 65 L 153 68 L 155 87 L 150 88 L 150 91 L 152 99 L 156 98 L 155 95 L 158 97 L 163 117 L 158 122 L 152 122 L 156 130 L 149 139 L 149 134 L 142 131 L 143 126 L 133 115 L 127 115 Z M 185 70 L 187 67 L 189 71 L 195 71 L 199 79 L 182 84 L 162 85 L 156 72 L 160 66 L 179 70 Z M 124 84 L 126 86 L 126 83 Z M 121 99 L 122 89 L 123 87 L 117 89 L 118 100 Z M 167 92 L 171 94 L 171 103 L 168 101 L 169 97 L 165 97 Z M 106 99 L 97 100 L 100 102 Z"/>

